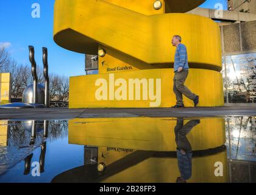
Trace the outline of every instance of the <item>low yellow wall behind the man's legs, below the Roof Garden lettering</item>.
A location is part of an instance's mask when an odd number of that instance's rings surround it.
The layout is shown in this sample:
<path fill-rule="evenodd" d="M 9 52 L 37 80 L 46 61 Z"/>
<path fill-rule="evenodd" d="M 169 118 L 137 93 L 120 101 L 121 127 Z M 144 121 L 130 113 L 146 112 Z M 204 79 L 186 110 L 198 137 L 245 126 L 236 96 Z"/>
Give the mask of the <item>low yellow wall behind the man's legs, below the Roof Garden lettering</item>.
<path fill-rule="evenodd" d="M 110 78 L 112 76 L 112 78 Z M 176 104 L 176 97 L 172 90 L 174 76 L 173 69 L 145 69 L 140 71 L 120 72 L 115 74 L 98 74 L 88 76 L 71 77 L 69 82 L 69 108 L 97 108 L 97 107 L 171 107 Z M 146 85 L 132 85 L 129 80 L 137 78 L 146 79 Z M 96 86 L 97 81 L 106 81 L 107 96 L 105 100 L 96 99 L 96 94 L 101 91 L 102 85 Z M 126 83 L 118 83 L 118 79 Z M 149 82 L 153 79 L 153 85 Z M 157 79 L 160 79 L 161 86 L 156 90 Z M 114 86 L 115 85 L 115 86 Z M 188 88 L 200 96 L 199 106 L 212 107 L 224 105 L 222 90 L 222 75 L 217 71 L 207 69 L 190 69 L 188 78 L 185 82 Z M 122 90 L 123 89 L 123 90 Z M 136 99 L 136 91 L 140 93 Z M 150 93 L 157 94 L 156 98 L 150 98 Z M 132 94 L 133 93 L 133 94 Z M 146 93 L 148 99 L 143 99 Z M 102 93 L 101 93 L 102 94 Z M 130 100 L 129 96 L 133 99 Z M 117 99 L 117 96 L 123 99 Z M 194 103 L 184 97 L 186 107 L 193 107 Z M 153 105 L 151 105 L 153 104 Z"/>

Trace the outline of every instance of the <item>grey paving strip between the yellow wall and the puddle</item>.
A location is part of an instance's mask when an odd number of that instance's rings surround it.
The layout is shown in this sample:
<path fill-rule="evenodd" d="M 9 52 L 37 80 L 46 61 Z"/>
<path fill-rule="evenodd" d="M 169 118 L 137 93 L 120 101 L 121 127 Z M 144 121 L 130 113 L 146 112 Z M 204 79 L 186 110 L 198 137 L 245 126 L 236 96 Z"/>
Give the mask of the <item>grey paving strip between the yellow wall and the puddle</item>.
<path fill-rule="evenodd" d="M 256 107 L 0 109 L 0 119 L 256 116 Z"/>

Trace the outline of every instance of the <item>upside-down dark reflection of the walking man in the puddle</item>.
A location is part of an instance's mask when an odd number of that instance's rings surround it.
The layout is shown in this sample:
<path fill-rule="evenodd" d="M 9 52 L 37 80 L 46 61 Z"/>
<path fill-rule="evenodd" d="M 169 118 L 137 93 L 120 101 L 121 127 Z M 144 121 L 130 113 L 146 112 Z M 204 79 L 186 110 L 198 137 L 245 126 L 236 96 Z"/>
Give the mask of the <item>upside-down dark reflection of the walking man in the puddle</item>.
<path fill-rule="evenodd" d="M 177 144 L 177 159 L 180 171 L 180 177 L 177 177 L 177 183 L 186 183 L 192 174 L 192 148 L 186 135 L 194 126 L 200 123 L 200 120 L 191 120 L 183 125 L 183 118 L 177 118 L 177 124 L 174 128 L 175 141 Z"/>

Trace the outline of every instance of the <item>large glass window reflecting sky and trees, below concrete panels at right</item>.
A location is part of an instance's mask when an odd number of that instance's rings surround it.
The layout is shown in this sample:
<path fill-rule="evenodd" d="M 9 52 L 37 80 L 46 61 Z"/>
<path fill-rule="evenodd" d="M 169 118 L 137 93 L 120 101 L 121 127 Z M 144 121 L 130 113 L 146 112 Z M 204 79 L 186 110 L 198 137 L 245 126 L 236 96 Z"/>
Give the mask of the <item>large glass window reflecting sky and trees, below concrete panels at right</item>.
<path fill-rule="evenodd" d="M 225 99 L 229 103 L 255 103 L 256 53 L 226 55 L 222 63 Z"/>

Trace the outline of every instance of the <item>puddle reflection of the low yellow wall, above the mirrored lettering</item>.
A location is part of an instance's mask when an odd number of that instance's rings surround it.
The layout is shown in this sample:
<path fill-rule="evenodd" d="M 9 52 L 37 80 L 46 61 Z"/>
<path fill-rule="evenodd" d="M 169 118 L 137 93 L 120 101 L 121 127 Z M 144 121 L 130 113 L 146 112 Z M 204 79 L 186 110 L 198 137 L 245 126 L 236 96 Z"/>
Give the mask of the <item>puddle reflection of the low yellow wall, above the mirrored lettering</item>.
<path fill-rule="evenodd" d="M 189 120 L 184 120 L 184 125 Z M 76 118 L 68 123 L 70 144 L 135 149 L 176 151 L 175 118 Z M 225 120 L 201 119 L 187 135 L 193 151 L 222 146 L 226 142 Z"/>

